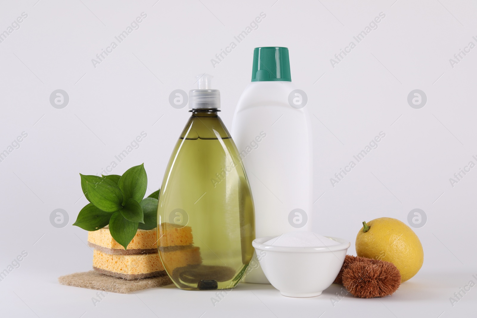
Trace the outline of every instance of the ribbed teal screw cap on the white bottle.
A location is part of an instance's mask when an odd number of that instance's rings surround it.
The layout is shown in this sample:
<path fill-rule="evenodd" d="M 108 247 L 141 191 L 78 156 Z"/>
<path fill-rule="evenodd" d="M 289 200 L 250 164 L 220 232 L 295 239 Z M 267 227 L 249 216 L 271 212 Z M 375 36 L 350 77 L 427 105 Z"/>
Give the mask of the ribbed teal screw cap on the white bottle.
<path fill-rule="evenodd" d="M 288 48 L 265 46 L 253 50 L 252 82 L 291 82 Z"/>

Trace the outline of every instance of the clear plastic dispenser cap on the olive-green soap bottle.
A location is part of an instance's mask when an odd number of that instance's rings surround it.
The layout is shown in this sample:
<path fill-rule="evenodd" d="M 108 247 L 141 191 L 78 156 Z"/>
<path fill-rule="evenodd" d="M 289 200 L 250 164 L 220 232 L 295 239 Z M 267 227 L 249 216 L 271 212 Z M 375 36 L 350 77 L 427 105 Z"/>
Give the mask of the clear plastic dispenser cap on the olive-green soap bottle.
<path fill-rule="evenodd" d="M 213 90 L 210 74 L 196 76 L 197 89 L 189 91 L 189 109 L 197 108 L 220 108 L 220 91 Z"/>

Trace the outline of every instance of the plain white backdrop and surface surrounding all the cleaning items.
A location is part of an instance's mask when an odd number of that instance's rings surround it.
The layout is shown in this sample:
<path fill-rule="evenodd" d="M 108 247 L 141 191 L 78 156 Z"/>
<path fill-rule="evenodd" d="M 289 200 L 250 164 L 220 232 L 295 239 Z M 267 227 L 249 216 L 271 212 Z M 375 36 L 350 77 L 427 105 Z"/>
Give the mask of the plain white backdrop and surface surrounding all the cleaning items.
<path fill-rule="evenodd" d="M 21 266 L 0 282 L 4 317 L 470 317 L 477 287 L 454 306 L 449 297 L 477 283 L 477 168 L 452 187 L 449 178 L 477 161 L 477 49 L 450 65 L 459 49 L 477 44 L 472 1 L 2 1 L 0 32 L 22 12 L 20 29 L 0 43 L 0 151 L 24 131 L 19 149 L 0 163 L 0 270 L 26 251 Z M 36 3 L 35 3 L 36 2 Z M 156 2 L 156 3 L 155 3 Z M 394 3 L 393 3 L 394 2 Z M 137 16 L 147 18 L 103 62 L 91 60 Z M 266 18 L 222 62 L 210 60 L 260 12 Z M 385 18 L 339 64 L 330 59 L 380 12 Z M 117 41 L 116 41 L 117 42 Z M 421 271 L 392 297 L 333 303 L 340 287 L 320 297 L 282 297 L 271 286 L 239 284 L 215 307 L 213 292 L 162 287 L 107 295 L 59 285 L 57 277 L 91 268 L 86 231 L 71 226 L 87 203 L 78 173 L 97 174 L 141 132 L 147 137 L 112 172 L 145 163 L 148 193 L 159 187 L 189 114 L 168 103 L 195 75 L 214 75 L 222 119 L 231 128 L 250 81 L 257 46 L 290 49 L 292 81 L 307 92 L 314 135 L 314 230 L 354 238 L 363 220 L 389 216 L 415 228 L 425 253 Z M 53 108 L 50 94 L 70 101 Z M 421 109 L 407 95 L 427 95 Z M 160 118 L 160 119 L 159 119 Z M 159 120 L 158 120 L 159 119 Z M 334 187 L 330 178 L 379 132 L 386 133 Z M 283 149 L 286 151 L 286 149 Z M 117 160 L 116 160 L 117 161 Z M 297 185 L 300 186 L 300 185 Z M 62 208 L 69 224 L 55 228 Z M 293 273 L 290 273 L 293 275 Z M 475 290 L 474 290 L 475 289 Z M 253 293 L 252 293 L 253 292 Z M 83 315 L 83 316 L 82 316 Z M 203 315 L 203 316 L 201 316 Z M 321 315 L 321 316 L 320 316 Z"/>

